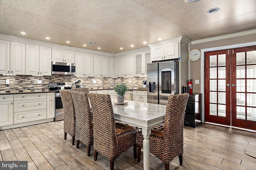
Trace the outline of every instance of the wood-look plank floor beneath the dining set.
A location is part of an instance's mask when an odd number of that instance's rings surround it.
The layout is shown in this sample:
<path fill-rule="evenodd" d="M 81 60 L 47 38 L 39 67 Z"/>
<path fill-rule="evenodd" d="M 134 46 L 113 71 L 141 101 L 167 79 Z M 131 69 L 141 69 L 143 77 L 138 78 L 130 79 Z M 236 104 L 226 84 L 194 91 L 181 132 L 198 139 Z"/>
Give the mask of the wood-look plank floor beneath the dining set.
<path fill-rule="evenodd" d="M 86 146 L 64 140 L 63 121 L 49 122 L 0 131 L 0 160 L 27 160 L 29 170 L 102 170 L 109 169 L 106 156 L 94 161 L 86 156 Z M 246 154 L 245 154 L 246 153 Z M 248 154 L 248 155 L 247 155 Z M 253 158 L 254 157 L 254 158 Z M 170 163 L 173 170 L 256 170 L 256 133 L 201 124 L 184 127 L 183 164 L 178 157 Z M 130 148 L 115 160 L 115 170 L 142 170 L 142 161 L 133 159 Z M 163 170 L 164 163 L 150 155 L 150 169 Z"/>

